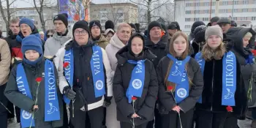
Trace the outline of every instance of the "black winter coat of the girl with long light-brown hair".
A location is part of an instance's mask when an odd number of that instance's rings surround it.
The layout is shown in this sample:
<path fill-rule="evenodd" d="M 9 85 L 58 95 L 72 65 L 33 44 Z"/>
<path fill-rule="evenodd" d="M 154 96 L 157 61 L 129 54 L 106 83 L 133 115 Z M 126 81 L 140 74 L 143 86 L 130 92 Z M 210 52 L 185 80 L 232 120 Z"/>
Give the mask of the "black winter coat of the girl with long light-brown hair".
<path fill-rule="evenodd" d="M 175 96 L 175 92 L 173 95 L 170 92 L 167 92 L 164 82 L 169 62 L 170 59 L 165 56 L 161 61 L 159 61 L 157 66 L 157 77 L 159 82 L 159 112 L 166 114 L 177 105 L 173 97 Z M 203 91 L 203 76 L 199 64 L 197 64 L 197 61 L 192 58 L 189 60 L 188 64 L 187 75 L 192 80 L 193 84 L 189 90 L 189 97 L 178 104 L 184 113 L 195 107 L 195 103 Z"/>

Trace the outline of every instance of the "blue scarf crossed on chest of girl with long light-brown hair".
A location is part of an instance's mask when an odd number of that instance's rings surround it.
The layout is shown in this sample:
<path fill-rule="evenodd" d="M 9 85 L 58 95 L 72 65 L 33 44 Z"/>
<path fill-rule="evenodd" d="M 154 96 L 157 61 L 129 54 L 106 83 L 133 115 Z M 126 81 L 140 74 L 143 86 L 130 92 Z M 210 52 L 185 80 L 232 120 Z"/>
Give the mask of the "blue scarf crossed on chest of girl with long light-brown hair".
<path fill-rule="evenodd" d="M 190 56 L 187 56 L 183 61 L 179 61 L 169 53 L 167 54 L 167 57 L 173 61 L 168 81 L 176 83 L 175 99 L 176 103 L 180 103 L 182 100 L 189 97 L 189 78 L 185 67 L 187 62 L 190 60 Z"/>

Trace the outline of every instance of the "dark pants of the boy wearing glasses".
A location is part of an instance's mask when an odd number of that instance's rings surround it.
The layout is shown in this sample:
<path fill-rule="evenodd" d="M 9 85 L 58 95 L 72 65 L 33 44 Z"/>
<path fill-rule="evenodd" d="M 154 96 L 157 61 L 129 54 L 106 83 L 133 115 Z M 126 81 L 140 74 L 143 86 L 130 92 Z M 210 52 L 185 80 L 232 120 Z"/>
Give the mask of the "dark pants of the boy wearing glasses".
<path fill-rule="evenodd" d="M 70 119 L 72 127 L 87 128 L 86 115 L 88 115 L 91 128 L 102 128 L 102 121 L 104 118 L 104 108 L 99 107 L 89 111 L 77 110 L 75 111 L 75 118 L 72 118 L 72 110 L 70 110 Z"/>

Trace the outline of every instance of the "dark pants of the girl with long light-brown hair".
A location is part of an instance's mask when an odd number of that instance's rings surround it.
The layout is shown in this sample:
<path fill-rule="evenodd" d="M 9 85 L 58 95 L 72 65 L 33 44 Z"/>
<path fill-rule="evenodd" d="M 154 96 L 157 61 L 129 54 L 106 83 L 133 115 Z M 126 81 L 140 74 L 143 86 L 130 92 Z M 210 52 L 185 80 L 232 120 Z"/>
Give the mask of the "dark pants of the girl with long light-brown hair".
<path fill-rule="evenodd" d="M 187 111 L 187 113 L 180 112 L 181 122 L 178 118 L 178 113 L 171 110 L 168 114 L 161 115 L 162 128 L 191 128 L 194 109 Z"/>

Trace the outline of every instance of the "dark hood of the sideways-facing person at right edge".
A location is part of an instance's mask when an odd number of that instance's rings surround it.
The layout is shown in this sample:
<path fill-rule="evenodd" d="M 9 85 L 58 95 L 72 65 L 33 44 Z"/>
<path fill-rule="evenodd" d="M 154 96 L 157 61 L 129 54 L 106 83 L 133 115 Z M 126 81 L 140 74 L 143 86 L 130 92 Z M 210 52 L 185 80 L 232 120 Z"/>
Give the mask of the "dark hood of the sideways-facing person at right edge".
<path fill-rule="evenodd" d="M 243 38 L 247 32 L 252 33 L 252 38 L 249 40 L 249 45 L 255 43 L 256 33 L 251 28 L 230 28 L 226 33 L 228 42 L 231 42 L 236 52 L 240 53 L 242 56 L 248 55 L 248 51 L 246 50 L 246 48 L 244 48 L 243 45 Z"/>

